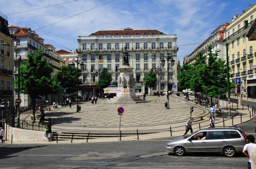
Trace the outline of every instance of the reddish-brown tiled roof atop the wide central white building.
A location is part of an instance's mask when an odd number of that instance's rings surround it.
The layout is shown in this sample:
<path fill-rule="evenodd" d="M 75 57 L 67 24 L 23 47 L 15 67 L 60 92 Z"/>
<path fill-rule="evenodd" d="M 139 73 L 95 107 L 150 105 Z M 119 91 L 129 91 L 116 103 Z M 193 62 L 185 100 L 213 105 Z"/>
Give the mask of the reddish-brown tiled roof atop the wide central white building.
<path fill-rule="evenodd" d="M 155 29 L 154 30 L 113 30 L 113 31 L 97 31 L 94 34 L 96 36 L 99 36 L 100 33 L 102 33 L 103 36 L 107 36 L 108 33 L 110 33 L 112 36 L 116 35 L 116 33 L 118 33 L 119 35 L 125 35 L 125 33 L 129 33 L 129 35 L 135 35 L 135 33 L 139 33 L 139 35 L 143 35 L 144 33 L 151 35 L 151 33 L 155 33 L 155 35 L 158 35 L 160 31 L 157 31 Z"/>

